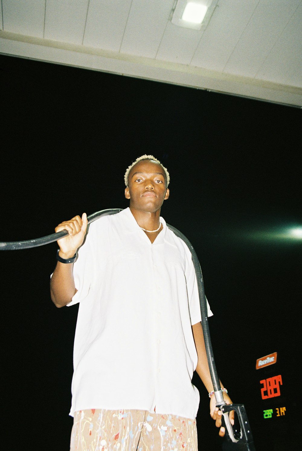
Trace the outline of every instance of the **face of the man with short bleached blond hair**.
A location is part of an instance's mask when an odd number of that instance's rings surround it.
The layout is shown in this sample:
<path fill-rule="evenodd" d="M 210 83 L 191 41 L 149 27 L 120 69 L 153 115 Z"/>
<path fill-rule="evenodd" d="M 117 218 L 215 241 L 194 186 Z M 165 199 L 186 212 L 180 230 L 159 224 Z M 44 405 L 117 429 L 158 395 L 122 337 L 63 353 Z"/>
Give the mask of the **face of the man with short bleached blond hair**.
<path fill-rule="evenodd" d="M 156 212 L 169 198 L 165 172 L 156 161 L 138 161 L 131 169 L 128 181 L 125 198 L 130 199 L 130 207 L 136 210 Z"/>

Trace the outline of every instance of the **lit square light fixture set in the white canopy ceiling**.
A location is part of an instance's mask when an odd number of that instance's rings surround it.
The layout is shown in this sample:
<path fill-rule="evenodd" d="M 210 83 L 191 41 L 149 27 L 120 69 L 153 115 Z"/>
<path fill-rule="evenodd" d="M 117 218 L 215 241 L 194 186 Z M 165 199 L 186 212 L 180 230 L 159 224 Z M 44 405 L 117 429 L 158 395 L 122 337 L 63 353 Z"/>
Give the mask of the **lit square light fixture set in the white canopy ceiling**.
<path fill-rule="evenodd" d="M 177 0 L 171 22 L 193 30 L 205 29 L 217 3 L 218 0 Z"/>

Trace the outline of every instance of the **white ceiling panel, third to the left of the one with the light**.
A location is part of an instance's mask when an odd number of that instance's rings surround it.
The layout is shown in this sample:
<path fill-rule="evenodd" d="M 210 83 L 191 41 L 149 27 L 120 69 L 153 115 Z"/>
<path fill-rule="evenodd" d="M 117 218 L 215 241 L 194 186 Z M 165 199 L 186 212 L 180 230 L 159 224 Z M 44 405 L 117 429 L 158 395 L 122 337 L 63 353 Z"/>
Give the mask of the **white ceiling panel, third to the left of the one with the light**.
<path fill-rule="evenodd" d="M 45 39 L 82 44 L 89 0 L 47 0 Z"/>

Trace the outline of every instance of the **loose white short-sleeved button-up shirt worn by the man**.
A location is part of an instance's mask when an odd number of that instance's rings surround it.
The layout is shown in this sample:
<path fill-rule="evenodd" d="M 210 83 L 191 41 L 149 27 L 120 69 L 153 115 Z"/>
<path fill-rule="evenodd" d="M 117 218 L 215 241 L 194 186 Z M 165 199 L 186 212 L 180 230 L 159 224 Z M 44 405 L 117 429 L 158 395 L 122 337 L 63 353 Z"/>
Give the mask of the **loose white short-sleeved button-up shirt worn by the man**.
<path fill-rule="evenodd" d="M 89 226 L 73 266 L 78 291 L 68 304 L 80 303 L 70 415 L 156 409 L 196 417 L 197 281 L 188 247 L 161 221 L 153 244 L 129 208 Z"/>

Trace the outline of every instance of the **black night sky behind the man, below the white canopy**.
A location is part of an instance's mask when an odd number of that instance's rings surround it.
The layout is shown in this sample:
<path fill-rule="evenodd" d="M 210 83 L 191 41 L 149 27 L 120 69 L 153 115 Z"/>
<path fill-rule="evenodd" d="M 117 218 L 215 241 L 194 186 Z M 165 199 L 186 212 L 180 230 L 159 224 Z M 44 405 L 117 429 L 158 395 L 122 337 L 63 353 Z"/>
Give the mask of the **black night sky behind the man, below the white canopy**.
<path fill-rule="evenodd" d="M 83 211 L 126 207 L 124 171 L 153 153 L 171 175 L 162 216 L 201 262 L 219 375 L 246 405 L 257 451 L 294 449 L 302 241 L 267 234 L 302 226 L 301 110 L 7 56 L 0 79 L 0 240 L 37 238 Z M 26 435 L 32 450 L 67 450 L 72 425 L 77 308 L 50 301 L 56 248 L 0 252 L 6 431 L 12 443 Z M 274 351 L 278 363 L 256 371 L 256 359 Z M 265 404 L 259 381 L 280 373 L 282 396 Z M 219 450 L 198 388 L 200 443 Z M 286 418 L 264 420 L 271 405 L 285 405 Z"/>

